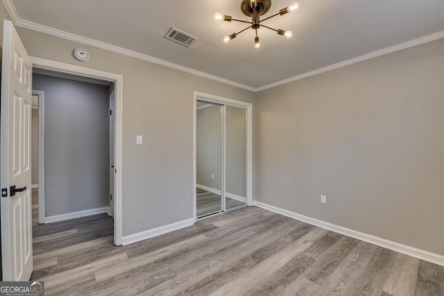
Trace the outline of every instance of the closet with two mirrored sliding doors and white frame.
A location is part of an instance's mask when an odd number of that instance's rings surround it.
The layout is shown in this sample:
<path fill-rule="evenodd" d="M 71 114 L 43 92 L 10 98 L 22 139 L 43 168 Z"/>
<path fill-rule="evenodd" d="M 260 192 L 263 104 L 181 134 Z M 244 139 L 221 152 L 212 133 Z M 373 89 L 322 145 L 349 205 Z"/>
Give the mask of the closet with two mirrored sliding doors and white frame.
<path fill-rule="evenodd" d="M 194 219 L 252 205 L 252 112 L 194 92 Z"/>

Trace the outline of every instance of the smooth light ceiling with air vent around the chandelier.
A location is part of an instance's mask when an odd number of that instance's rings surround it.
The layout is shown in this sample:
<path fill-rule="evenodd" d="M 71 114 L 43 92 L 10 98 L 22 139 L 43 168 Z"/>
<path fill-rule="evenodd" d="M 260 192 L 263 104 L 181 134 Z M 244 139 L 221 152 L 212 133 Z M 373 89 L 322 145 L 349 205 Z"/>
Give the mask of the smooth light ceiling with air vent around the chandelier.
<path fill-rule="evenodd" d="M 293 1 L 273 0 L 264 17 Z M 293 37 L 287 40 L 259 28 L 262 46 L 255 49 L 251 29 L 228 44 L 222 41 L 223 36 L 248 24 L 213 19 L 214 12 L 221 12 L 249 21 L 240 10 L 241 0 L 12 0 L 24 21 L 149 55 L 247 88 L 264 87 L 444 31 L 444 1 L 298 2 L 296 12 L 264 21 L 267 26 L 293 31 Z M 171 26 L 198 40 L 187 48 L 164 39 Z"/>

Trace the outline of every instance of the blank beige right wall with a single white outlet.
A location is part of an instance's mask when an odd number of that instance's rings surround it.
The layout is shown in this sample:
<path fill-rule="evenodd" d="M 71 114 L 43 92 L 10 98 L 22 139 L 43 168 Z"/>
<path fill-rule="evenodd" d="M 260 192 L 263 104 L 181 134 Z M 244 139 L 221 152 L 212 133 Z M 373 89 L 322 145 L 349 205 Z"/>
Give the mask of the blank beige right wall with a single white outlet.
<path fill-rule="evenodd" d="M 257 94 L 256 200 L 444 255 L 443 53 L 442 39 Z"/>

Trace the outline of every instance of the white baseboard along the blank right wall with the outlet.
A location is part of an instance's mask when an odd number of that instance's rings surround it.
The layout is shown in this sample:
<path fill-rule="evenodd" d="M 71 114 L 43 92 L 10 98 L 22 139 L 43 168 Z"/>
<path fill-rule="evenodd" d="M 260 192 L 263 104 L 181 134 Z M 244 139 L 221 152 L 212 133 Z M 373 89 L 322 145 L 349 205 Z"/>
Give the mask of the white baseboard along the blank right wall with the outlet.
<path fill-rule="evenodd" d="M 409 245 L 402 245 L 401 243 L 396 243 L 394 241 L 388 241 L 385 238 L 379 238 L 377 236 L 373 236 L 371 234 L 365 234 L 363 232 L 357 232 L 356 230 L 345 228 L 339 225 L 334 225 L 332 223 L 325 222 L 323 220 L 318 220 L 315 218 L 310 218 L 307 216 L 303 216 L 301 214 L 294 213 L 292 211 L 287 211 L 286 209 L 281 209 L 278 207 L 271 206 L 270 204 L 265 204 L 264 202 L 254 202 L 254 205 L 257 207 L 261 207 L 262 209 L 266 209 L 268 211 L 273 211 L 275 213 L 281 214 L 283 216 L 287 216 L 289 218 L 293 218 L 296 220 L 300 220 L 305 223 L 309 223 L 311 225 L 315 225 L 317 227 L 321 227 L 332 232 L 337 232 L 339 234 L 343 234 L 345 236 L 350 236 L 352 238 L 357 238 L 361 241 L 365 241 L 367 243 L 373 243 L 373 245 L 379 245 L 379 247 L 385 247 L 388 250 L 392 250 L 395 252 L 399 252 L 402 254 L 406 254 L 408 256 L 412 256 L 424 261 L 428 261 L 431 263 L 435 263 L 441 266 L 444 266 L 444 256 L 435 254 L 432 252 L 428 252 L 425 250 L 420 250 L 416 247 L 411 247 Z"/>

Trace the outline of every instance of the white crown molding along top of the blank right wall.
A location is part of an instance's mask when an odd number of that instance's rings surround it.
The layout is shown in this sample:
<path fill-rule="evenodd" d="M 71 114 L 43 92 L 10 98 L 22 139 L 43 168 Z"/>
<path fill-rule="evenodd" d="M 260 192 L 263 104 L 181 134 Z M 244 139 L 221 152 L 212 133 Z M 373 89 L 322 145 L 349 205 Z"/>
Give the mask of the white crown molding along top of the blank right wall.
<path fill-rule="evenodd" d="M 420 44 L 425 44 L 427 42 L 432 42 L 434 40 L 438 40 L 438 39 L 441 39 L 441 38 L 444 38 L 444 31 L 441 31 L 441 32 L 438 32 L 438 33 L 434 33 L 432 35 L 427 35 L 427 36 L 424 36 L 424 37 L 420 37 L 418 39 L 407 41 L 407 42 L 404 42 L 404 43 L 401 43 L 401 44 L 398 44 L 398 45 L 395 45 L 395 46 L 387 47 L 386 49 L 381 49 L 379 51 L 373 51 L 373 53 L 367 53 L 366 55 L 361 55 L 361 56 L 359 56 L 357 58 L 352 58 L 350 60 L 345 60 L 343 62 L 339 62 L 339 63 L 336 63 L 336 64 L 331 64 L 330 66 L 323 67 L 321 69 L 316 69 L 314 71 L 309 71 L 307 73 L 302 73 L 302 74 L 300 74 L 298 76 L 294 76 L 294 77 L 287 78 L 287 79 L 284 79 L 284 80 L 280 80 L 280 81 L 277 81 L 277 82 L 273 82 L 273 83 L 271 83 L 269 85 L 264 85 L 262 87 L 257 87 L 255 89 L 255 92 L 261 92 L 262 90 L 265 90 L 265 89 L 271 89 L 272 87 L 277 87 L 279 85 L 285 85 L 287 83 L 290 83 L 290 82 L 293 82 L 293 81 L 296 81 L 296 80 L 300 80 L 300 79 L 307 78 L 307 77 L 310 77 L 310 76 L 315 76 L 315 75 L 318 75 L 318 74 L 321 74 L 321 73 L 325 73 L 327 71 L 332 71 L 332 70 L 335 70 L 335 69 L 339 69 L 339 68 L 342 68 L 342 67 L 345 67 L 345 66 L 349 66 L 350 64 L 356 64 L 357 62 L 363 62 L 365 60 L 370 60 L 370 59 L 373 59 L 373 58 L 377 58 L 377 57 L 379 57 L 381 55 L 387 55 L 388 53 L 394 53 L 395 51 L 402 51 L 402 49 L 409 49 L 410 47 L 417 46 L 417 45 L 420 45 Z"/>

